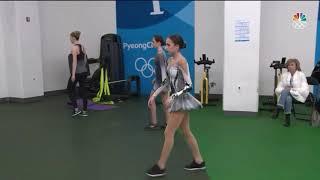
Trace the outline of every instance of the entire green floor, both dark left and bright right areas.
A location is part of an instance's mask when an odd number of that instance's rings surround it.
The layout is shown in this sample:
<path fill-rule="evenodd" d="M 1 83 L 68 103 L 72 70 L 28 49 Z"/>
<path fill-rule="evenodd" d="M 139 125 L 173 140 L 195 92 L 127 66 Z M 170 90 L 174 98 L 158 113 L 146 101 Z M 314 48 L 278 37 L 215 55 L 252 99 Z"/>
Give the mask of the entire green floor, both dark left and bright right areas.
<path fill-rule="evenodd" d="M 0 104 L 1 180 L 143 180 L 159 157 L 162 131 L 144 131 L 146 99 L 71 118 L 65 96 Z M 185 172 L 191 160 L 180 133 L 168 162 L 172 180 L 320 178 L 320 128 L 293 121 L 284 128 L 269 112 L 224 116 L 221 105 L 191 114 L 206 172 Z M 161 115 L 161 113 L 159 113 Z M 129 117 L 129 118 L 126 118 Z M 211 177 L 209 178 L 208 175 Z"/>

